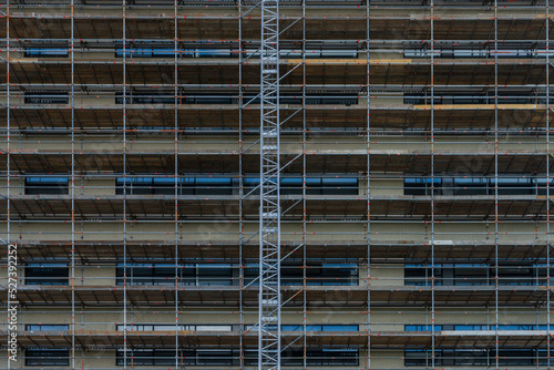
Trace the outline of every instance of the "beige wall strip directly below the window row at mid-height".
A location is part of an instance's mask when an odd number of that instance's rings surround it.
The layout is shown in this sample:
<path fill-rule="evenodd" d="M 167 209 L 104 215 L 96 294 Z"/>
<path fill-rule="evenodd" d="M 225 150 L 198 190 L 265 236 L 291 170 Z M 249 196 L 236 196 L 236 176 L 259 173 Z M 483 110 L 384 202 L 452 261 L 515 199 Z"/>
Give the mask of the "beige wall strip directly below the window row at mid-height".
<path fill-rule="evenodd" d="M 238 223 L 187 223 L 177 225 L 178 240 L 197 240 L 198 243 L 239 240 L 240 225 Z M 255 222 L 244 223 L 245 239 L 255 237 L 258 225 Z M 12 222 L 10 241 L 65 240 L 71 241 L 71 224 L 60 222 L 24 223 Z M 127 225 L 129 240 L 175 241 L 175 225 L 172 222 L 131 223 Z M 123 224 L 121 222 L 94 220 L 75 223 L 75 240 L 122 240 Z M 301 224 L 283 223 L 283 240 L 299 241 L 302 239 Z M 295 234 L 296 233 L 296 234 Z M 494 243 L 493 223 L 440 223 L 434 225 L 435 243 Z M 308 243 L 336 240 L 361 241 L 367 234 L 366 222 L 318 222 L 306 224 L 306 240 Z M 369 237 L 371 243 L 400 241 L 429 244 L 433 237 L 429 224 L 389 222 L 371 223 Z M 7 240 L 7 225 L 0 224 L 0 238 Z M 499 224 L 500 243 L 521 243 L 534 245 L 546 239 L 544 223 L 501 223 Z"/>

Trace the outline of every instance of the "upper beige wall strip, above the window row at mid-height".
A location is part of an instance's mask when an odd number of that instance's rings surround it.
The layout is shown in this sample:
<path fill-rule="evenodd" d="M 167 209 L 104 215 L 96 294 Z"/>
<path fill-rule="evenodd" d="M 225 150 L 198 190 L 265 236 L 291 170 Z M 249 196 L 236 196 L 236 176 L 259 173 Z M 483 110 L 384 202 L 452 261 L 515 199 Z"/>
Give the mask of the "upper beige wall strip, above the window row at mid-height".
<path fill-rule="evenodd" d="M 12 102 L 13 103 L 13 102 Z M 247 136 L 244 147 L 249 147 L 246 153 L 259 153 L 259 146 L 254 144 L 257 137 Z M 254 145 L 252 145 L 254 144 Z M 252 145 L 252 146 L 250 146 Z M 412 153 L 430 152 L 494 152 L 493 137 L 472 136 L 440 136 L 434 138 L 434 144 L 425 137 L 420 136 L 373 136 L 369 144 L 371 151 L 383 153 Z M 12 135 L 10 140 L 11 150 L 24 151 L 71 151 L 71 140 L 69 136 L 18 136 Z M 121 134 L 114 135 L 86 135 L 76 136 L 74 148 L 91 153 L 122 153 L 124 150 Z M 127 153 L 142 152 L 173 152 L 175 150 L 175 138 L 168 135 L 129 134 L 126 136 Z M 544 152 L 546 150 L 545 136 L 522 137 L 522 136 L 499 136 L 499 151 L 522 151 L 522 152 Z M 177 151 L 183 153 L 238 153 L 238 136 L 186 136 L 179 137 Z M 301 153 L 301 137 L 287 136 L 281 141 L 284 153 Z M 365 136 L 314 136 L 306 142 L 308 153 L 350 153 L 366 154 L 367 144 Z M 12 184 L 13 185 L 13 184 Z"/>

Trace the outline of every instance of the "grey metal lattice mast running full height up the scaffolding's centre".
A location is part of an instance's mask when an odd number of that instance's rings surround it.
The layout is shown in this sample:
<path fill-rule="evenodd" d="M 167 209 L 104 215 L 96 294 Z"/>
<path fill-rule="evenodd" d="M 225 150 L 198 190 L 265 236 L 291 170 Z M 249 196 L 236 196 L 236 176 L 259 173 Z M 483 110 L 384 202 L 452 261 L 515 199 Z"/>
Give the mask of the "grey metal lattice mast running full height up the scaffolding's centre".
<path fill-rule="evenodd" d="M 279 1 L 261 0 L 258 369 L 280 369 Z"/>

